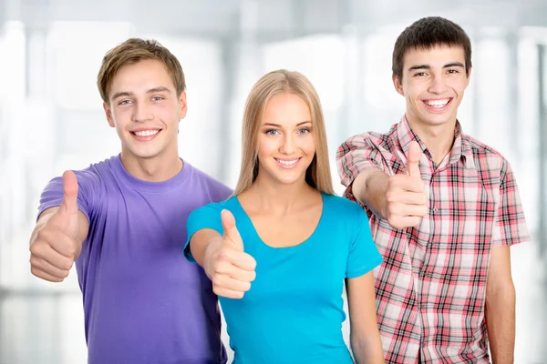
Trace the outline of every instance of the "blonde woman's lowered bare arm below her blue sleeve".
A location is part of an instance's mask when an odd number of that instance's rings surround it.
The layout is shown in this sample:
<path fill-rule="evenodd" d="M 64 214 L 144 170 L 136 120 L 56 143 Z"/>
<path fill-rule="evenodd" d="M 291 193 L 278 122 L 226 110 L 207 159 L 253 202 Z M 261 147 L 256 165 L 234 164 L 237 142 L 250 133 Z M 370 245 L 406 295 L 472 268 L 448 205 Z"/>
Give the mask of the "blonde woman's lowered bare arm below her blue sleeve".
<path fill-rule="evenodd" d="M 357 364 L 384 363 L 372 272 L 346 280 L 350 341 Z"/>

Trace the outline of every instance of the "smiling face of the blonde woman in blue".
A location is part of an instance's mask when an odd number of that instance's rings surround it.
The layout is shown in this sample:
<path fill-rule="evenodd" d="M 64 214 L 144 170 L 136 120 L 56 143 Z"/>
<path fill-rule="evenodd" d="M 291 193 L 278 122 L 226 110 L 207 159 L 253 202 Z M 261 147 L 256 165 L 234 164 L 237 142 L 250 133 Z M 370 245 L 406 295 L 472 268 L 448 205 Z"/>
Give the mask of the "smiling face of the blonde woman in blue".
<path fill-rule="evenodd" d="M 263 112 L 257 145 L 257 179 L 304 184 L 315 157 L 312 116 L 304 99 L 289 92 L 272 96 Z"/>

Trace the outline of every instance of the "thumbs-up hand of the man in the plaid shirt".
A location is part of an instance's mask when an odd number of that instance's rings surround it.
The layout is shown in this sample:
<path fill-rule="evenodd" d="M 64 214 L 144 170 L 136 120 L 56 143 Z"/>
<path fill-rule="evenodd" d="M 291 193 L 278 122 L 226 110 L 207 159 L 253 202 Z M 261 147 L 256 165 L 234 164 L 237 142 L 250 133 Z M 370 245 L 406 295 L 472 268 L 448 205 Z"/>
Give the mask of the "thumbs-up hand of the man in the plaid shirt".
<path fill-rule="evenodd" d="M 417 227 L 428 214 L 428 197 L 420 177 L 419 159 L 422 151 L 418 142 L 408 147 L 407 166 L 402 174 L 389 177 L 384 217 L 391 227 Z"/>

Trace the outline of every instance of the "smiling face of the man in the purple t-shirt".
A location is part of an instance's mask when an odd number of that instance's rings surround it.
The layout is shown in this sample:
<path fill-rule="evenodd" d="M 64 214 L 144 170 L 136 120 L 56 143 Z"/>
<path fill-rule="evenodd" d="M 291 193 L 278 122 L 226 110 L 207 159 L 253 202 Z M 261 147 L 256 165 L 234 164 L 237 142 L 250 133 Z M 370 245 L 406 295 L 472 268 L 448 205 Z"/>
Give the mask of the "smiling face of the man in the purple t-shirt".
<path fill-rule="evenodd" d="M 177 95 L 167 68 L 155 59 L 123 66 L 108 88 L 104 109 L 116 128 L 122 156 L 150 159 L 178 156 L 179 121 L 186 116 L 186 92 Z"/>

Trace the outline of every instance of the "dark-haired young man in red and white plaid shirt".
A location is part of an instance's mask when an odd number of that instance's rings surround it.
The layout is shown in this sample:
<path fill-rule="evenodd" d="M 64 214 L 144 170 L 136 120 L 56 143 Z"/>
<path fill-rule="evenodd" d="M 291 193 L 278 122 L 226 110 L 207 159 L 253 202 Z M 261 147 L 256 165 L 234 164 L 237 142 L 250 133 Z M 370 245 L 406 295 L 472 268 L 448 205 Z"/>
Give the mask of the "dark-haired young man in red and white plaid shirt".
<path fill-rule="evenodd" d="M 388 363 L 512 363 L 511 245 L 530 239 L 508 161 L 462 133 L 468 35 L 418 20 L 399 35 L 393 82 L 406 113 L 387 134 L 338 149 L 345 196 L 364 206 L 384 263 L 375 269 Z"/>

